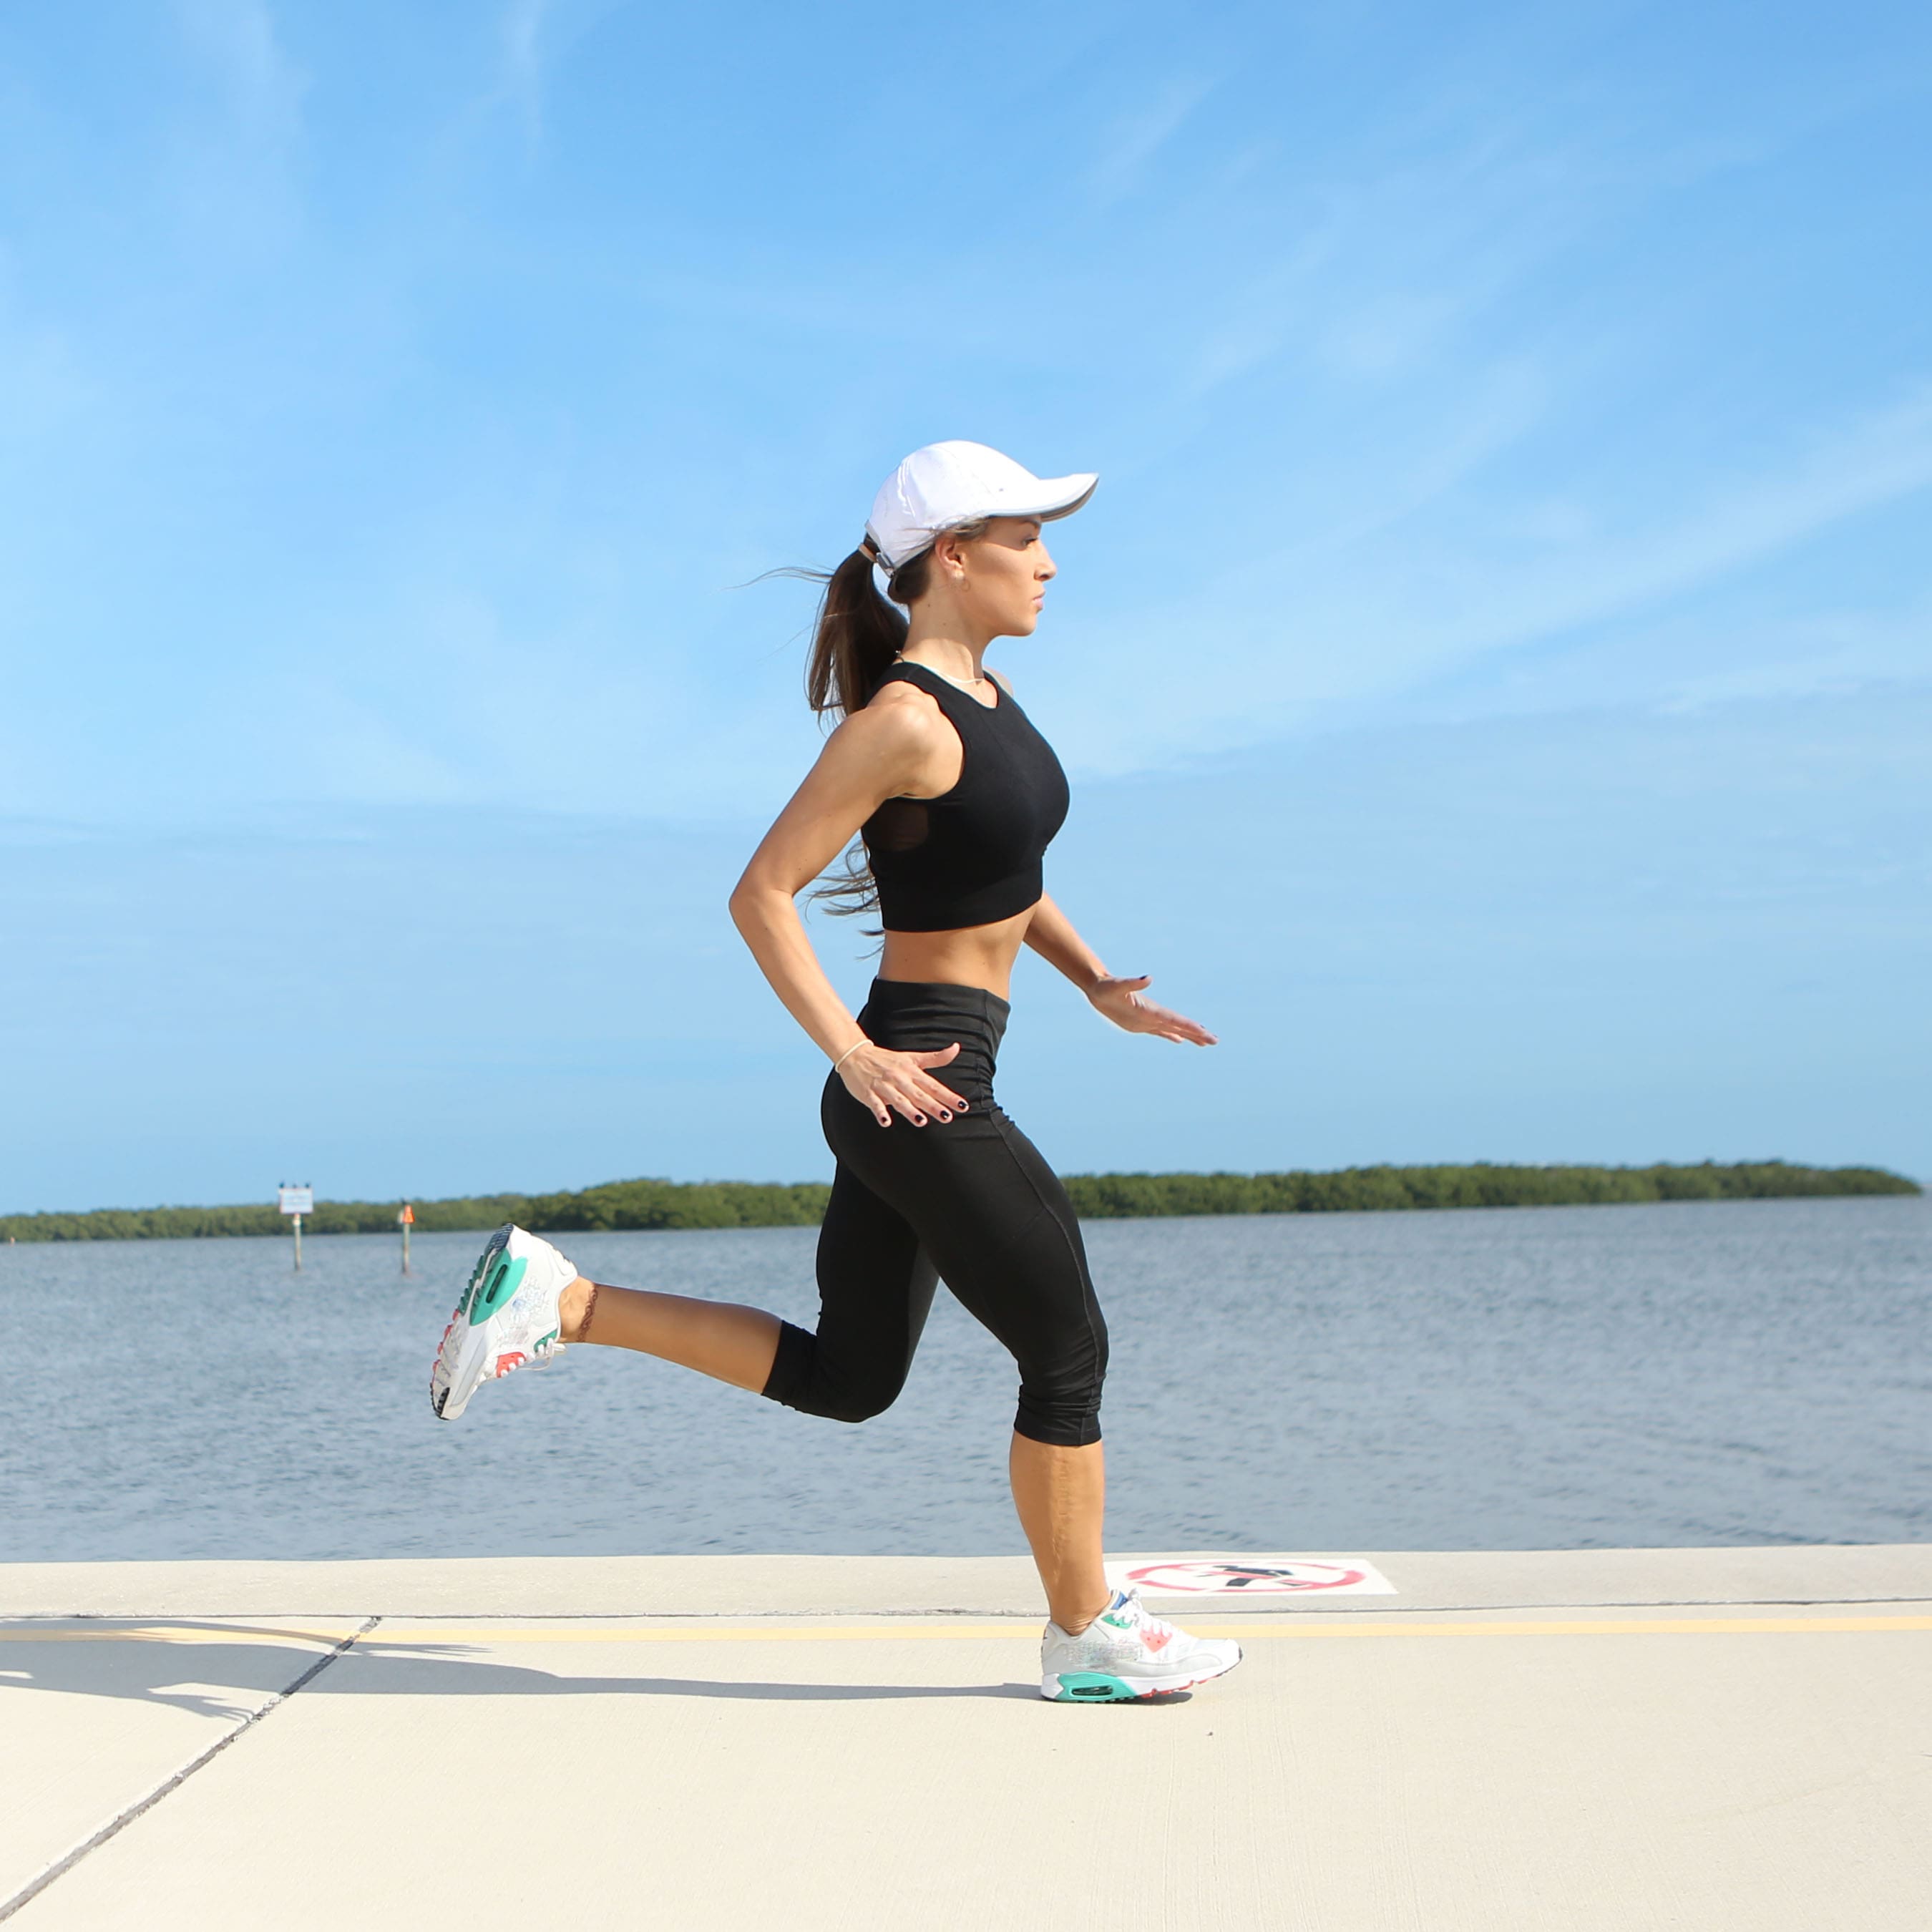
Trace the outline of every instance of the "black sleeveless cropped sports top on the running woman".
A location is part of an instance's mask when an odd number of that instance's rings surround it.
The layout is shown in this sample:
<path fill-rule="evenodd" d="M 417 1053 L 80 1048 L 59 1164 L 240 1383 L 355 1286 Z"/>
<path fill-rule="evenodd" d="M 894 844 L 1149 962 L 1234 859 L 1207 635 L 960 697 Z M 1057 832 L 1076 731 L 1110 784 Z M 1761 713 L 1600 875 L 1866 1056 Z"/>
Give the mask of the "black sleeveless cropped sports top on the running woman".
<path fill-rule="evenodd" d="M 889 798 L 860 835 L 889 933 L 943 933 L 1026 912 L 1039 860 L 1066 819 L 1066 773 L 1009 692 L 981 705 L 949 678 L 896 659 L 879 686 L 914 684 L 937 699 L 966 755 L 937 798 Z"/>

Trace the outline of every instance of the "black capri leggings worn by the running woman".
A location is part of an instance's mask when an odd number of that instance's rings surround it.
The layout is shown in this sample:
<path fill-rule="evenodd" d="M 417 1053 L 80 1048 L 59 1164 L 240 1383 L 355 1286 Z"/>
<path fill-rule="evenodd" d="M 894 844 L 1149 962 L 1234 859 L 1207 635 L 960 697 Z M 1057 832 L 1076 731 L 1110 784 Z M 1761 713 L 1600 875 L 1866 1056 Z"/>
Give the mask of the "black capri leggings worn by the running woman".
<path fill-rule="evenodd" d="M 773 1401 L 840 1422 L 889 1408 L 943 1279 L 1020 1366 L 1012 1426 L 1041 1443 L 1099 1441 L 1107 1323 L 1066 1190 L 993 1099 L 1007 1012 L 976 985 L 873 980 L 858 1016 L 867 1037 L 898 1053 L 956 1039 L 933 1074 L 972 1105 L 879 1126 L 827 1078 L 819 1113 L 838 1169 L 819 1229 L 819 1331 L 782 1325 Z"/>

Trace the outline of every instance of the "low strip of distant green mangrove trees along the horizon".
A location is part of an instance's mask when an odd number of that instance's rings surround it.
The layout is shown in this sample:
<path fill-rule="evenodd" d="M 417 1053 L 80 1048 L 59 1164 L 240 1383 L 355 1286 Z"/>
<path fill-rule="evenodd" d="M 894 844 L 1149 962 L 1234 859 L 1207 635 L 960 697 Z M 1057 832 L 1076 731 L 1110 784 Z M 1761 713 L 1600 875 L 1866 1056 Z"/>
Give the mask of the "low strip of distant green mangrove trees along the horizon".
<path fill-rule="evenodd" d="M 609 1180 L 574 1194 L 473 1194 L 413 1202 L 423 1233 L 504 1221 L 547 1233 L 582 1229 L 815 1227 L 829 1188 L 819 1180 Z M 1882 1167 L 1795 1167 L 1789 1161 L 1702 1161 L 1692 1167 L 1343 1167 L 1285 1175 L 1068 1175 L 1088 1221 L 1190 1213 L 1349 1213 L 1393 1208 L 1563 1208 L 1602 1202 L 1770 1200 L 1793 1194 L 1918 1194 Z M 381 1235 L 398 1202 L 317 1202 L 313 1235 Z M 0 1215 L 0 1240 L 170 1240 L 280 1235 L 274 1208 L 97 1208 L 91 1213 Z"/>

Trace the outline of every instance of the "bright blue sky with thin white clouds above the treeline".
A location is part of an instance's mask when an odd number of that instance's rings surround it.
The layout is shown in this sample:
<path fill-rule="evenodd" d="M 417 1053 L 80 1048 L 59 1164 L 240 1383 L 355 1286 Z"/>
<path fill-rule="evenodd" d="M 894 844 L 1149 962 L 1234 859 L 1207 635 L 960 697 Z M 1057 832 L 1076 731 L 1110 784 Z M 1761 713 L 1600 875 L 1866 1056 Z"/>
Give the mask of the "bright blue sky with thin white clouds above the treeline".
<path fill-rule="evenodd" d="M 724 918 L 918 442 L 1094 468 L 995 653 L 1068 1171 L 1932 1173 L 1918 8 L 0 19 L 0 1209 L 819 1175 Z M 821 927 L 856 997 L 862 943 Z"/>

